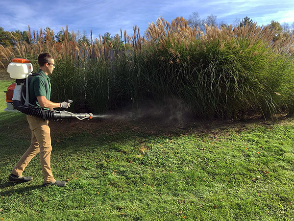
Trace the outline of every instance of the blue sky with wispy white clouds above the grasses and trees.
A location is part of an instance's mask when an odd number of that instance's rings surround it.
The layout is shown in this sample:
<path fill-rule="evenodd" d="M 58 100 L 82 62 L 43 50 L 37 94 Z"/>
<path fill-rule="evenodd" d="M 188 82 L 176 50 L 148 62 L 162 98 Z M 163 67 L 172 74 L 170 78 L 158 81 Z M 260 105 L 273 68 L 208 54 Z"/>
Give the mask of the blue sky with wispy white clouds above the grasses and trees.
<path fill-rule="evenodd" d="M 201 18 L 213 14 L 217 21 L 233 24 L 236 18 L 250 17 L 258 25 L 271 20 L 294 23 L 294 0 L 0 0 L 0 26 L 6 31 L 40 30 L 49 26 L 54 32 L 68 25 L 70 31 L 94 37 L 108 31 L 111 35 L 133 25 L 144 34 L 149 23 L 162 16 L 166 21 L 193 12 Z"/>

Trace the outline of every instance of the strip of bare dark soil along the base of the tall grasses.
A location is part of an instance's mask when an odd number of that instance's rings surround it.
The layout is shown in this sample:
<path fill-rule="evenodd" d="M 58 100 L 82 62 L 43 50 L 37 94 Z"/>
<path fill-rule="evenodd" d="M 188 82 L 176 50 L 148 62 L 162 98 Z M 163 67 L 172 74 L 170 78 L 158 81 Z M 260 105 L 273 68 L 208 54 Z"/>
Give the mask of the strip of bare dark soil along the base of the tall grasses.
<path fill-rule="evenodd" d="M 134 134 L 145 134 L 153 136 L 175 136 L 185 134 L 210 134 L 212 136 L 226 136 L 228 133 L 253 129 L 256 126 L 271 127 L 275 124 L 289 124 L 293 122 L 293 118 L 287 118 L 285 115 L 277 116 L 270 121 L 265 121 L 261 116 L 248 119 L 247 121 L 202 121 L 189 120 L 182 123 L 170 122 L 154 119 L 140 120 L 59 120 L 50 122 L 52 136 L 66 133 L 104 133 L 117 134 L 120 132 L 129 132 Z"/>

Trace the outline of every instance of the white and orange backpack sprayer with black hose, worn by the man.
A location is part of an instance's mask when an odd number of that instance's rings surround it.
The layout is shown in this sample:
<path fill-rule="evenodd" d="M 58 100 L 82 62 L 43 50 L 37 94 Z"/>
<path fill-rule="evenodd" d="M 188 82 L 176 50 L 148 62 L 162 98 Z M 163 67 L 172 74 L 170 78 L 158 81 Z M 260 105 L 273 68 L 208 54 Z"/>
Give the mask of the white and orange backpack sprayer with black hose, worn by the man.
<path fill-rule="evenodd" d="M 28 102 L 29 78 L 36 74 L 31 74 L 33 66 L 29 60 L 22 58 L 14 58 L 8 65 L 7 72 L 11 78 L 16 79 L 6 91 L 6 105 L 4 111 L 20 111 L 26 115 L 43 118 L 44 120 L 59 120 L 77 118 L 78 120 L 92 119 L 92 113 L 74 114 L 69 111 L 46 110 L 44 108 L 34 106 Z M 46 81 L 45 81 L 46 82 Z M 45 83 L 46 85 L 46 83 Z M 68 100 L 72 102 L 72 100 Z"/>

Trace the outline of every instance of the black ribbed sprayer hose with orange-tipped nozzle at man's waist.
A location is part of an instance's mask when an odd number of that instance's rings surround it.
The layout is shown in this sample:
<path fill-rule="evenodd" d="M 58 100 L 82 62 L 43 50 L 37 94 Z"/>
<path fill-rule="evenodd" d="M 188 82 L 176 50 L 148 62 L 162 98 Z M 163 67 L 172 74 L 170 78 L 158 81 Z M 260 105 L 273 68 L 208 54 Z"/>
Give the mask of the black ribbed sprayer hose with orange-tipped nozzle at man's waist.
<path fill-rule="evenodd" d="M 93 114 L 91 113 L 73 114 L 68 111 L 45 110 L 38 107 L 24 106 L 21 104 L 19 100 L 13 100 L 12 104 L 14 108 L 19 110 L 20 112 L 26 115 L 42 118 L 44 120 L 56 121 L 58 119 L 70 119 L 70 118 L 77 118 L 79 120 L 84 120 L 84 119 L 93 118 Z"/>

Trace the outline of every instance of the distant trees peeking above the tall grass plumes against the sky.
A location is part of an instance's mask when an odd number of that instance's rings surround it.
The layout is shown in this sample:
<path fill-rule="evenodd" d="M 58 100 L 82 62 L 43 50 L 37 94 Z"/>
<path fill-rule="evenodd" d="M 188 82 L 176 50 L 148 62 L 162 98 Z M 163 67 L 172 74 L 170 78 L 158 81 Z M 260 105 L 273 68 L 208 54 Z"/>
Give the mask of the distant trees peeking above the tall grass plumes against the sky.
<path fill-rule="evenodd" d="M 213 25 L 218 26 L 219 28 L 228 26 L 229 24 L 225 23 L 224 21 L 217 22 L 217 16 L 216 15 L 209 15 L 206 18 L 201 18 L 199 16 L 198 12 L 193 12 L 192 15 L 189 16 L 188 19 L 184 19 L 183 17 L 176 17 L 175 22 L 185 24 L 187 23 L 189 26 L 195 26 L 199 27 L 202 31 L 205 31 L 205 25 Z M 253 25 L 256 24 L 252 19 L 249 17 L 245 17 L 243 19 L 235 18 L 233 21 L 233 26 L 245 26 L 245 25 Z M 271 29 L 274 30 L 274 36 L 273 40 L 279 39 L 281 36 L 287 34 L 294 36 L 294 22 L 292 25 L 288 23 L 282 23 L 280 24 L 277 21 L 272 20 L 270 24 L 268 24 Z M 51 30 L 50 27 L 46 27 L 42 30 L 40 29 L 40 34 L 46 36 L 46 33 L 51 33 L 52 36 L 52 42 L 62 42 L 65 40 L 64 30 L 60 30 L 56 34 L 54 34 L 53 30 Z M 75 41 L 78 44 L 91 44 L 91 38 L 87 36 L 86 31 L 80 32 L 79 30 L 72 32 L 75 36 Z M 71 32 L 68 32 L 68 40 L 73 41 L 73 34 Z M 24 41 L 27 44 L 34 44 L 36 43 L 33 36 L 35 35 L 35 31 L 33 31 L 33 35 L 30 33 L 30 28 L 28 28 L 28 31 L 21 31 L 21 30 L 15 30 L 15 31 L 5 31 L 3 27 L 0 27 L 0 45 L 3 47 L 9 47 L 9 46 L 15 46 L 18 41 Z M 92 30 L 91 30 L 92 35 Z M 46 42 L 47 39 L 44 37 L 43 42 Z M 112 43 L 112 46 L 114 48 L 120 48 L 123 44 L 123 41 L 121 39 L 121 36 L 116 34 L 115 36 L 111 36 L 109 32 L 106 32 L 102 36 L 102 41 L 104 44 L 104 41 L 108 41 Z"/>

